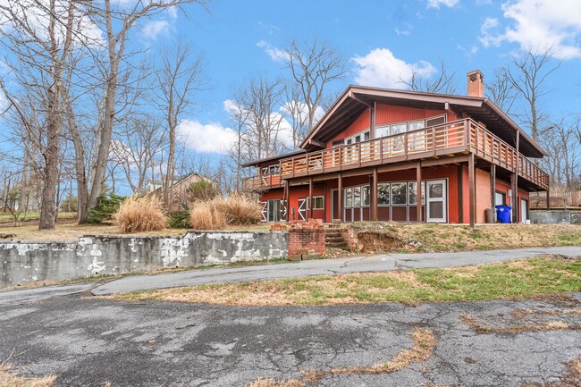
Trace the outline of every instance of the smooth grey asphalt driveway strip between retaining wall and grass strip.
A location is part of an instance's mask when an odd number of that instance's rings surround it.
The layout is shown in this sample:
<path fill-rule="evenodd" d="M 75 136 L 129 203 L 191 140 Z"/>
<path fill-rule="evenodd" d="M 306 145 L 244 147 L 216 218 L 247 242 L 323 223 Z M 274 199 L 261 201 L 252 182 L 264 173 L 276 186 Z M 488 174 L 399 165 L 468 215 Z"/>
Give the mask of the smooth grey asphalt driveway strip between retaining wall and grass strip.
<path fill-rule="evenodd" d="M 106 295 L 131 290 L 149 290 L 193 286 L 218 282 L 244 282 L 308 275 L 383 272 L 422 267 L 452 267 L 486 264 L 497 261 L 535 257 L 543 254 L 581 256 L 581 247 L 519 248 L 515 250 L 470 251 L 432 254 L 385 254 L 374 257 L 322 259 L 277 265 L 239 266 L 181 273 L 164 273 L 125 277 L 107 282 L 94 290 L 94 295 Z M 5 296 L 5 295 L 4 295 Z M 0 302 L 3 294 L 0 293 Z"/>

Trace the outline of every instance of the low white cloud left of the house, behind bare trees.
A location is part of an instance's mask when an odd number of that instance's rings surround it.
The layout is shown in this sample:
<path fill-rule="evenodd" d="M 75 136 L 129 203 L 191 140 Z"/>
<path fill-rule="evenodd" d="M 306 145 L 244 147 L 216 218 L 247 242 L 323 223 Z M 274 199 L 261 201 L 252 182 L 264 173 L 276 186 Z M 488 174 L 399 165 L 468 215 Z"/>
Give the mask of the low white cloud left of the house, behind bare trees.
<path fill-rule="evenodd" d="M 176 131 L 186 147 L 198 152 L 226 154 L 236 142 L 234 130 L 217 122 L 204 124 L 198 120 L 181 120 Z"/>

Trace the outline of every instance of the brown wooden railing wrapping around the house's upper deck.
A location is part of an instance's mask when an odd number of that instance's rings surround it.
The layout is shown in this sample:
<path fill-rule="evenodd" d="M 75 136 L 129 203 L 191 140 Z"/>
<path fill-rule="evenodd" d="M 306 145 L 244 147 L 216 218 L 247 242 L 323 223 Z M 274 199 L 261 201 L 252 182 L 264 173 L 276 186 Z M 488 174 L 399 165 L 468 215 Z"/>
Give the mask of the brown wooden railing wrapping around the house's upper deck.
<path fill-rule="evenodd" d="M 514 147 L 471 119 L 447 122 L 429 128 L 392 134 L 356 144 L 341 145 L 280 161 L 280 175 L 269 180 L 257 176 L 252 184 L 271 187 L 281 179 L 308 174 L 341 171 L 368 165 L 390 164 L 432 156 L 474 152 L 476 156 L 513 171 L 518 160 L 519 175 L 548 188 L 549 176 Z M 274 179 L 278 177 L 278 180 Z"/>

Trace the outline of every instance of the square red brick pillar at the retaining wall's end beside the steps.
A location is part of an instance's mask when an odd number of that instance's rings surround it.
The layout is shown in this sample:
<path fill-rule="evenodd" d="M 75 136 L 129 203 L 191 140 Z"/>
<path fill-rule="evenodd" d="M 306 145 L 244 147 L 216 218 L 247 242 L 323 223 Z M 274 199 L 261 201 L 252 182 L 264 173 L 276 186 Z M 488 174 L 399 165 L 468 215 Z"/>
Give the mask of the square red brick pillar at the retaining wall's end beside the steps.
<path fill-rule="evenodd" d="M 325 231 L 320 219 L 292 222 L 289 230 L 289 258 L 307 259 L 324 255 Z"/>

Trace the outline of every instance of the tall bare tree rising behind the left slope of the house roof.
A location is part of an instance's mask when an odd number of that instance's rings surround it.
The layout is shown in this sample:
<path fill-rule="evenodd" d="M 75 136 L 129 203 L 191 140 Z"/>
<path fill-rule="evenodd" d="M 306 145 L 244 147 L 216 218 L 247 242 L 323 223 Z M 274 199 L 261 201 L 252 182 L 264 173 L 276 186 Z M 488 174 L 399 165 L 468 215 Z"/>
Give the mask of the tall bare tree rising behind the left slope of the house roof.
<path fill-rule="evenodd" d="M 326 88 L 333 80 L 341 80 L 346 75 L 345 58 L 328 42 L 317 38 L 304 43 L 292 39 L 284 51 L 286 55 L 281 59 L 299 86 L 297 97 L 307 107 L 307 129 L 311 130 Z M 290 103 L 297 104 L 297 101 Z"/>

